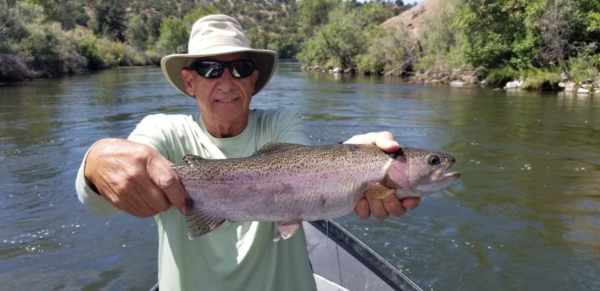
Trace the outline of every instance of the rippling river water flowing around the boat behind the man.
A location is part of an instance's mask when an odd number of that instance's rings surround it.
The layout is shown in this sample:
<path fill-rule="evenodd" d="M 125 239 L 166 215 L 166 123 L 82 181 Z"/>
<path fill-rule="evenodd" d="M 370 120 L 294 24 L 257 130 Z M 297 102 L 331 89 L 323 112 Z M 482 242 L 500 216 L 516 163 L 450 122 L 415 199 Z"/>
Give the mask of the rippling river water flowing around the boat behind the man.
<path fill-rule="evenodd" d="M 424 290 L 600 290 L 600 96 L 403 84 L 281 62 L 251 107 L 298 110 L 314 144 L 390 131 L 461 177 L 384 221 L 336 219 Z M 154 219 L 86 212 L 89 145 L 196 114 L 159 68 L 0 85 L 0 290 L 148 290 Z"/>

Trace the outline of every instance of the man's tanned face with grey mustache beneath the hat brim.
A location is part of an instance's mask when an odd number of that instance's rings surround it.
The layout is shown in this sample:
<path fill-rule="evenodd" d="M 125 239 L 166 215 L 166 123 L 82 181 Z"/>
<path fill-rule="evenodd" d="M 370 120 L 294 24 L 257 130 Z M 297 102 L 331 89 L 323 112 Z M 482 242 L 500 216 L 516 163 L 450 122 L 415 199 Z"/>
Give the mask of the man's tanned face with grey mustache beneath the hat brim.
<path fill-rule="evenodd" d="M 251 58 L 248 53 L 230 53 L 193 59 L 192 63 L 197 60 L 232 62 L 234 60 L 251 60 Z M 229 68 L 225 68 L 221 77 L 218 78 L 205 78 L 190 69 L 183 69 L 181 74 L 187 92 L 196 96 L 205 121 L 228 123 L 248 119 L 254 83 L 259 75 L 256 69 L 250 77 L 245 78 L 233 77 Z"/>

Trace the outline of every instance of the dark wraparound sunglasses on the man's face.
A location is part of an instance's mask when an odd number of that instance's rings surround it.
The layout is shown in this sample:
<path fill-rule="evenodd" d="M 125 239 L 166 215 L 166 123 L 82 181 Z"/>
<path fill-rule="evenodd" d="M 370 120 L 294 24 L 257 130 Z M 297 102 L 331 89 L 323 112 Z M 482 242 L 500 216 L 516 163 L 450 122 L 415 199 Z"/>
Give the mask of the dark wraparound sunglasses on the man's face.
<path fill-rule="evenodd" d="M 190 65 L 190 69 L 205 78 L 218 78 L 223 75 L 225 68 L 236 78 L 245 78 L 254 72 L 254 62 L 251 60 L 234 60 L 219 62 L 218 60 L 199 60 Z"/>

